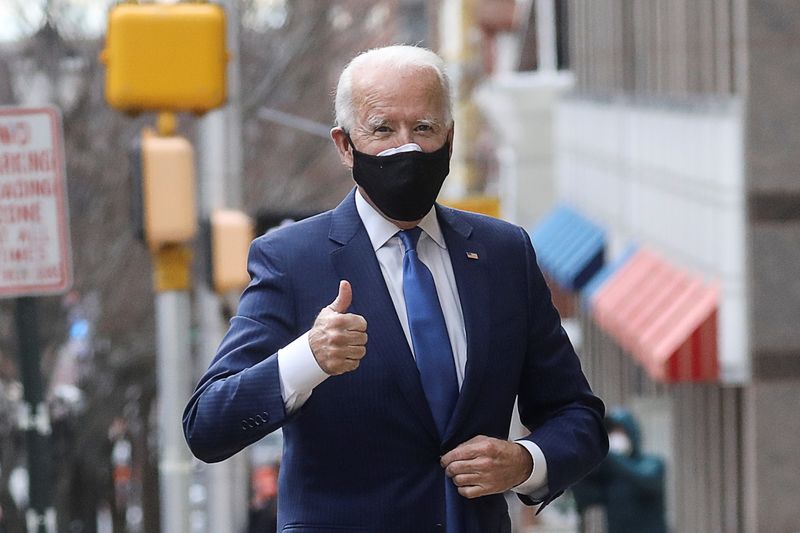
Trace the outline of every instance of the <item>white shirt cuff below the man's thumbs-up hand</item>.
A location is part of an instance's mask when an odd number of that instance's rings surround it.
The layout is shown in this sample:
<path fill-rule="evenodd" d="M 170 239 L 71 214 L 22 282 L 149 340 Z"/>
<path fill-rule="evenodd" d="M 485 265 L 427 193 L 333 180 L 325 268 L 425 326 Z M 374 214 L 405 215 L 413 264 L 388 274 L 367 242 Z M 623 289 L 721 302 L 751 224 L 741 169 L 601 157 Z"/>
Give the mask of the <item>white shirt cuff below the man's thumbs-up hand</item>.
<path fill-rule="evenodd" d="M 278 374 L 287 415 L 300 409 L 311 397 L 314 387 L 328 379 L 311 352 L 308 332 L 278 350 Z"/>

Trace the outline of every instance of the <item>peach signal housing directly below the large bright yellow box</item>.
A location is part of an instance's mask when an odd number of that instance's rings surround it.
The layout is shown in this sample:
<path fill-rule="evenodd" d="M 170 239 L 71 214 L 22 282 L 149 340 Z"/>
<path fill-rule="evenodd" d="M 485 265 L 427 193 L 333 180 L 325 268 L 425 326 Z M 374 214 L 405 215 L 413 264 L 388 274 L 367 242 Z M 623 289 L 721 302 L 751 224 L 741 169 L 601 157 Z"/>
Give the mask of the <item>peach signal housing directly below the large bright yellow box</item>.
<path fill-rule="evenodd" d="M 180 136 L 142 132 L 141 179 L 144 237 L 148 246 L 185 243 L 197 233 L 194 151 Z"/>

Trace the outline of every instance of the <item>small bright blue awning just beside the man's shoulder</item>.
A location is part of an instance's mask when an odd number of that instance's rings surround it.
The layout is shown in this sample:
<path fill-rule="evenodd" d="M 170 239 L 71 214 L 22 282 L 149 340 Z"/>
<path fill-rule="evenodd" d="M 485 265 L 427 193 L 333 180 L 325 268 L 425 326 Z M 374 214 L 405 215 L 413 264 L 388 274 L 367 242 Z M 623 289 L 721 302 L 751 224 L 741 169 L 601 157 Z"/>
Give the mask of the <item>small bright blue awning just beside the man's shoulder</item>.
<path fill-rule="evenodd" d="M 603 265 L 603 228 L 561 205 L 531 232 L 539 266 L 562 288 L 578 292 Z"/>

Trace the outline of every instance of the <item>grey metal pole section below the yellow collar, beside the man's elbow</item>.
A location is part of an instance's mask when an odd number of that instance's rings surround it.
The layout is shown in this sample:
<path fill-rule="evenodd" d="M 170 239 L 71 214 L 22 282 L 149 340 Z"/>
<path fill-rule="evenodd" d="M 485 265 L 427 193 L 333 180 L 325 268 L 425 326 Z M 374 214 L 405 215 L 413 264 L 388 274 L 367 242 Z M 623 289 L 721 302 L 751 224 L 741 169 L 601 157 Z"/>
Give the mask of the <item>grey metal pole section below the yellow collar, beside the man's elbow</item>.
<path fill-rule="evenodd" d="M 189 475 L 192 456 L 181 430 L 181 415 L 191 394 L 189 291 L 156 295 L 158 341 L 159 482 L 161 531 L 189 533 Z"/>

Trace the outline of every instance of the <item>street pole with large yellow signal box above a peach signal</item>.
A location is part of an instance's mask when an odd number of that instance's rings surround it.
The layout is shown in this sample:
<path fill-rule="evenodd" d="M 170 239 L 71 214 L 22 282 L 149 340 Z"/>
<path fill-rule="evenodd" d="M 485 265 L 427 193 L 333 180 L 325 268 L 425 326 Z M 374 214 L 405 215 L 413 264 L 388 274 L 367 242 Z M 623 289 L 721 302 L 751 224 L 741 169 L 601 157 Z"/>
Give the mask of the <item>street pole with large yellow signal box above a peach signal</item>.
<path fill-rule="evenodd" d="M 191 252 L 196 236 L 194 151 L 174 113 L 224 103 L 225 12 L 211 2 L 121 2 L 109 11 L 105 96 L 124 112 L 156 111 L 141 139 L 142 234 L 156 292 L 161 530 L 188 533 L 192 456 L 181 431 L 191 396 Z M 112 35 L 114 36 L 112 38 Z M 147 45 L 147 46 L 145 46 Z M 160 139 L 159 139 L 160 138 Z M 134 152 L 135 153 L 135 152 Z"/>

